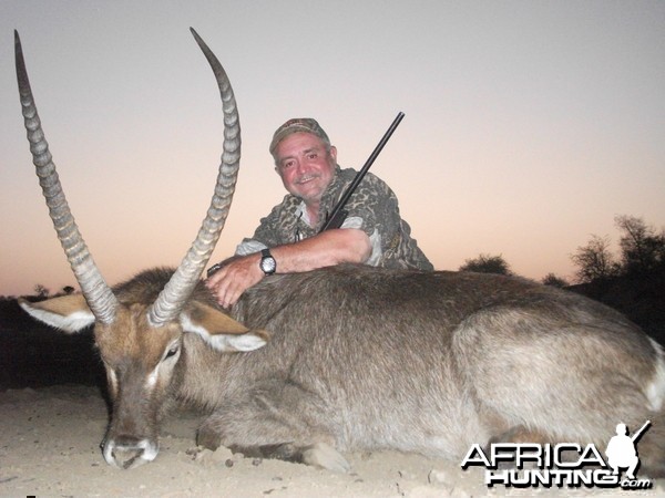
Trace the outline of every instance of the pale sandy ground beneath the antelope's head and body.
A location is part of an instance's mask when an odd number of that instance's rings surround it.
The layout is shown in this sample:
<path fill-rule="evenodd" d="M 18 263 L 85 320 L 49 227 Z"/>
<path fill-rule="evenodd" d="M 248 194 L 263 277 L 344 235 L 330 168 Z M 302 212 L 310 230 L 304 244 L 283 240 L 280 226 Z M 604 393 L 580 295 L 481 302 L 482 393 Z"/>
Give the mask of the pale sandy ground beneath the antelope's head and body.
<path fill-rule="evenodd" d="M 60 385 L 0 392 L 0 496 L 73 497 L 471 497 L 665 496 L 598 489 L 488 489 L 479 469 L 393 452 L 347 455 L 354 470 L 335 474 L 305 465 L 213 453 L 194 444 L 198 417 L 177 413 L 165 426 L 162 449 L 147 465 L 106 465 L 100 442 L 108 421 L 96 387 Z"/>

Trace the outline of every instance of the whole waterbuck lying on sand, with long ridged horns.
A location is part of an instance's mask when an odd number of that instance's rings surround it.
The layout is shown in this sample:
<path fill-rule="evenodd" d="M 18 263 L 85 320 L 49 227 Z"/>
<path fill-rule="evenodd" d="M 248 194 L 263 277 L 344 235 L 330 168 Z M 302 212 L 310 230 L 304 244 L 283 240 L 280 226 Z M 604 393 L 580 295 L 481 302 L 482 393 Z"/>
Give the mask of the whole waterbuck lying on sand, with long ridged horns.
<path fill-rule="evenodd" d="M 195 34 L 195 33 L 194 33 Z M 198 443 L 347 470 L 349 450 L 393 448 L 460 461 L 473 444 L 607 444 L 617 423 L 653 426 L 643 468 L 665 474 L 663 349 L 622 314 L 519 278 L 339 266 L 265 278 L 231 313 L 201 273 L 223 228 L 239 160 L 226 74 L 224 155 L 208 215 L 175 270 L 111 289 L 62 195 L 17 38 L 31 149 L 82 295 L 22 302 L 69 332 L 94 323 L 113 400 L 109 464 L 155 458 L 173 401 L 207 417 Z"/>

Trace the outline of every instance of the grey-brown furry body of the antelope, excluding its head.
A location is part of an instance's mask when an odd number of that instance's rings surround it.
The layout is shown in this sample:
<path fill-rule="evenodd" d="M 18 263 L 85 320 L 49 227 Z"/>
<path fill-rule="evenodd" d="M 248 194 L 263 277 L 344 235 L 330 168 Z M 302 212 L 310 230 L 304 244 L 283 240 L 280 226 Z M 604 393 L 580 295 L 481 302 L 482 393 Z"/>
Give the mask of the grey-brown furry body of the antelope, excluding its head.
<path fill-rule="evenodd" d="M 143 274 L 119 300 L 150 302 L 161 278 Z M 267 278 L 233 315 L 272 341 L 219 354 L 185 334 L 165 390 L 212 411 L 207 446 L 293 457 L 284 445 L 323 442 L 460 460 L 504 434 L 603 445 L 618 422 L 649 418 L 642 461 L 664 471 L 663 407 L 649 409 L 645 392 L 663 360 L 638 328 L 583 297 L 499 276 L 345 266 Z"/>

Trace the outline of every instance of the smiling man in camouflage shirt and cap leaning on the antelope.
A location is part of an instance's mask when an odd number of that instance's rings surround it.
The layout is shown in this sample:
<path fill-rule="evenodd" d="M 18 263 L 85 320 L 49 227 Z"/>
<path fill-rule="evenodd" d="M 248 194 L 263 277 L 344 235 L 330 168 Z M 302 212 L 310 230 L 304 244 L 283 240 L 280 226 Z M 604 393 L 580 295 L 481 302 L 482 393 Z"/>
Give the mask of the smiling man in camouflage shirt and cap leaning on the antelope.
<path fill-rule="evenodd" d="M 397 197 L 368 173 L 346 205 L 339 229 L 319 234 L 357 172 L 337 165 L 337 149 L 311 118 L 283 124 L 273 136 L 275 170 L 289 193 L 260 220 L 252 239 L 221 263 L 206 284 L 225 308 L 266 274 L 289 273 L 342 262 L 432 270 L 399 215 Z"/>

